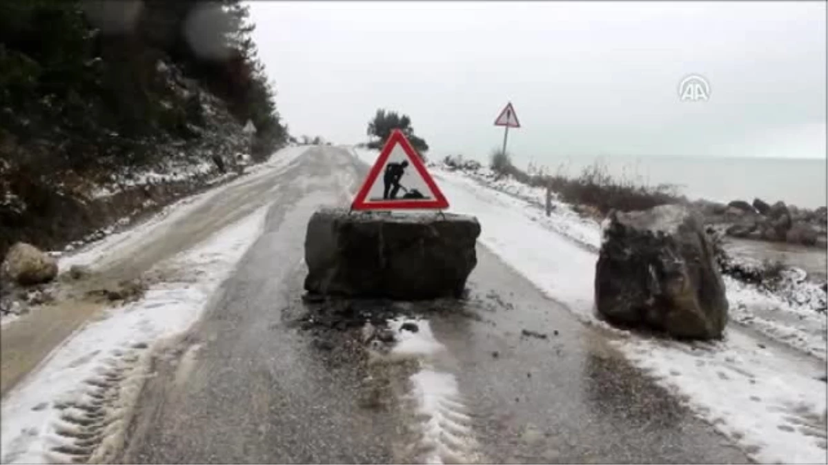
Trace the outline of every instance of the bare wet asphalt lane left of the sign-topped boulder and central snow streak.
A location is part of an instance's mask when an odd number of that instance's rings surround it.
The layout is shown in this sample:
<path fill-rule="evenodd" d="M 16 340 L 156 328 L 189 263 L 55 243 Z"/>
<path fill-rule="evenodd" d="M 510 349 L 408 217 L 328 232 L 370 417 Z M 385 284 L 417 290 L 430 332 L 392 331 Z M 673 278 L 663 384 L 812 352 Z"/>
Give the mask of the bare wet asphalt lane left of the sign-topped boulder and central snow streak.
<path fill-rule="evenodd" d="M 161 353 L 119 462 L 376 463 L 390 457 L 386 415 L 355 403 L 364 377 L 361 351 L 320 350 L 287 321 L 301 307 L 310 214 L 322 205 L 347 205 L 358 187 L 351 180 L 365 171 L 336 149 L 309 151 L 301 160 L 278 180 L 262 236 L 205 318 Z"/>

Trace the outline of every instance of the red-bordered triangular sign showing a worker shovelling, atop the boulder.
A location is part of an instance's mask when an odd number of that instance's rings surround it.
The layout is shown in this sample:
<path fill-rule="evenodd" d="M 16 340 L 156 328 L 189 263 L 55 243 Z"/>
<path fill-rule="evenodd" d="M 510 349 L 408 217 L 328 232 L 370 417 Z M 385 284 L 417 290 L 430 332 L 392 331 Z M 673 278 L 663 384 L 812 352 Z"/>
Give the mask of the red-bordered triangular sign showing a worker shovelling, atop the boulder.
<path fill-rule="evenodd" d="M 354 210 L 446 209 L 448 200 L 399 129 L 383 146 L 351 208 Z"/>

